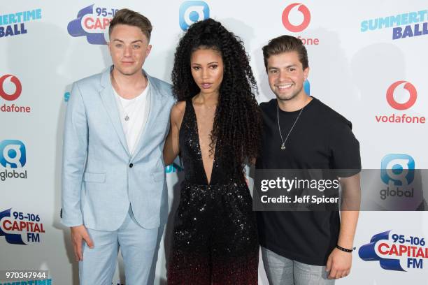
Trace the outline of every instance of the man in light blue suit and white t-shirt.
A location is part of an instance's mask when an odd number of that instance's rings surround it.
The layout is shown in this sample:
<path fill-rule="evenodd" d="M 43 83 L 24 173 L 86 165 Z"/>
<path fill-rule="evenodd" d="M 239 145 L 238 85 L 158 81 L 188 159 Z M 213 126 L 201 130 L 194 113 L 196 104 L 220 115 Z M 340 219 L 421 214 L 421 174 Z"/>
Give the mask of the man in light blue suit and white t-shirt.
<path fill-rule="evenodd" d="M 127 285 L 152 284 L 168 214 L 162 149 L 171 86 L 143 71 L 152 26 L 119 10 L 113 66 L 73 84 L 66 111 L 62 223 L 71 227 L 80 284 L 110 285 L 117 251 Z"/>

